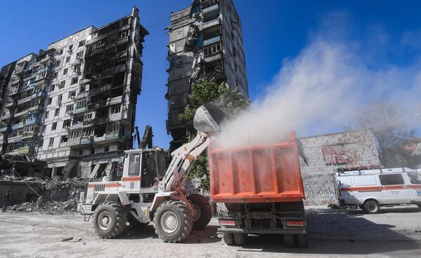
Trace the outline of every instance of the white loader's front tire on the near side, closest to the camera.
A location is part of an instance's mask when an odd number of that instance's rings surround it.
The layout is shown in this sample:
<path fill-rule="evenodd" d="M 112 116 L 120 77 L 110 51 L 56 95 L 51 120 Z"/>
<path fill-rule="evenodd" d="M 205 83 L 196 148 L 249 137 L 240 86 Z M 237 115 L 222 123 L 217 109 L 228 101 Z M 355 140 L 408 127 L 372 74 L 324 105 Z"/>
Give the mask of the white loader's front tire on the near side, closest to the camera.
<path fill-rule="evenodd" d="M 169 200 L 157 208 L 153 223 L 155 233 L 164 242 L 179 243 L 190 234 L 193 219 L 186 204 Z"/>

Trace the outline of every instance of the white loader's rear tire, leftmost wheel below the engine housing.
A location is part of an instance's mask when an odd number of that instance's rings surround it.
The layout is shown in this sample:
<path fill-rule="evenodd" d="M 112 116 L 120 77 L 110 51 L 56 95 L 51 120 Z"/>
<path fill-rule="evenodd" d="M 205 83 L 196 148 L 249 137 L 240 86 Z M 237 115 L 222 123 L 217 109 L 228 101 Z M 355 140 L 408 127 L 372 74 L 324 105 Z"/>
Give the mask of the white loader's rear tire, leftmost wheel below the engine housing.
<path fill-rule="evenodd" d="M 115 238 L 126 229 L 124 207 L 115 201 L 100 203 L 93 214 L 93 228 L 101 238 Z"/>

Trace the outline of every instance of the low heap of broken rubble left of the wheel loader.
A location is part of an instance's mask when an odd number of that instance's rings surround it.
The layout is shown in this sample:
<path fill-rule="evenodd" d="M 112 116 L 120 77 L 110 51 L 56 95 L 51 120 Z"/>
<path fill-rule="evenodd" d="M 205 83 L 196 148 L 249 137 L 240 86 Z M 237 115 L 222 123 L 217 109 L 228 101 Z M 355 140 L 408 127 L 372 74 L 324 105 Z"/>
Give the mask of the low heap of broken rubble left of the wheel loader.
<path fill-rule="evenodd" d="M 15 210 L 18 212 L 43 212 L 46 214 L 63 214 L 76 212 L 77 202 L 75 199 L 68 201 L 44 201 L 41 196 L 35 203 L 20 203 L 9 207 L 7 210 Z"/>

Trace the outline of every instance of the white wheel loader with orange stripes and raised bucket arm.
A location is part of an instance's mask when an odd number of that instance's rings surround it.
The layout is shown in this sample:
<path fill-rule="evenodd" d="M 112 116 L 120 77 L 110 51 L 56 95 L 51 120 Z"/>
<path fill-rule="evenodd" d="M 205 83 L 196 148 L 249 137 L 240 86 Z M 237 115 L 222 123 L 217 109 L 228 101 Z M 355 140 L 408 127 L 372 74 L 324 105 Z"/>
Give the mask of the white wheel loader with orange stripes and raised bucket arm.
<path fill-rule="evenodd" d="M 93 226 L 101 238 L 121 235 L 127 222 L 145 226 L 154 222 L 164 242 L 178 243 L 192 229 L 203 229 L 212 217 L 212 207 L 200 194 L 186 187 L 186 172 L 209 145 L 209 136 L 219 130 L 224 112 L 205 104 L 195 113 L 197 136 L 169 155 L 164 149 L 124 151 L 122 179 L 90 182 L 86 201 L 79 205 L 82 215 L 93 215 Z"/>

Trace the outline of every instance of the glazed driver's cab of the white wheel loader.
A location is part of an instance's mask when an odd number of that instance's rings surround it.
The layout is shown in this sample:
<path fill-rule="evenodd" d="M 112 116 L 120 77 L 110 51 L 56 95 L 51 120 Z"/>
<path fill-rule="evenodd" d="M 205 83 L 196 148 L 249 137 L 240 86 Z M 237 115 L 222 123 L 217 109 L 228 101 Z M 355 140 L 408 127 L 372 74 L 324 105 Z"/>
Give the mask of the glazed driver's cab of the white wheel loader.
<path fill-rule="evenodd" d="M 154 189 L 164 178 L 168 164 L 168 151 L 163 149 L 126 151 L 122 181 L 128 182 L 129 189 Z"/>

